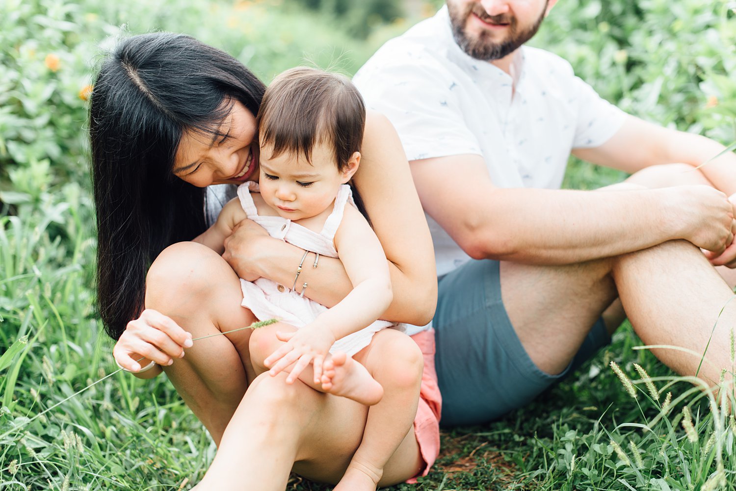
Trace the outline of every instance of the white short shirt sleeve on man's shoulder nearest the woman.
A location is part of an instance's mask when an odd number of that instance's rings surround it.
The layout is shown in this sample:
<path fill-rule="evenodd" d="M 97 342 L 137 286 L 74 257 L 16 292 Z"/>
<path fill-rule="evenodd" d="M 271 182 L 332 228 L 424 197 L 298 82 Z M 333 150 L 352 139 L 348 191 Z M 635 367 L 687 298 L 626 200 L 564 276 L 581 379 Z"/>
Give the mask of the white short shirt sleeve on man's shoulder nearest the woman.
<path fill-rule="evenodd" d="M 481 154 L 464 122 L 453 80 L 431 60 L 366 66 L 353 82 L 369 109 L 383 113 L 399 134 L 408 160 Z"/>

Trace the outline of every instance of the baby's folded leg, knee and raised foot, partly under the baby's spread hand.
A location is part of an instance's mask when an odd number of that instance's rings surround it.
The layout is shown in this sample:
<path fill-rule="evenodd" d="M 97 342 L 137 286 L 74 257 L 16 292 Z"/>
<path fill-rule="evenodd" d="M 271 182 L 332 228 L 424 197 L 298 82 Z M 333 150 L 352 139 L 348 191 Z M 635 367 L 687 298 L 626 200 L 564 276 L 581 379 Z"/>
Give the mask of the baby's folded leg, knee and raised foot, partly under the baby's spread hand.
<path fill-rule="evenodd" d="M 255 369 L 256 375 L 261 375 L 263 372 L 267 372 L 268 367 L 263 364 L 263 360 L 268 358 L 275 350 L 277 350 L 283 341 L 276 338 L 276 332 L 291 332 L 296 331 L 293 325 L 283 324 L 277 322 L 272 325 L 263 326 L 253 331 L 250 336 L 250 361 Z M 344 356 L 344 354 L 343 354 Z M 331 356 L 328 355 L 327 360 L 330 360 Z M 331 363 L 331 361 L 330 361 Z M 286 368 L 286 372 L 291 371 L 291 364 Z M 315 384 L 314 382 L 314 371 L 310 364 L 306 367 L 299 375 L 299 380 L 311 386 L 313 389 L 319 390 L 319 392 L 327 392 L 333 395 L 339 395 L 344 398 L 355 400 L 358 403 L 371 406 L 372 404 L 378 403 L 383 396 L 383 388 L 381 384 L 370 375 L 366 367 L 354 361 L 352 358 L 341 360 L 340 370 L 340 383 L 331 384 L 328 387 L 322 386 L 322 384 Z"/>

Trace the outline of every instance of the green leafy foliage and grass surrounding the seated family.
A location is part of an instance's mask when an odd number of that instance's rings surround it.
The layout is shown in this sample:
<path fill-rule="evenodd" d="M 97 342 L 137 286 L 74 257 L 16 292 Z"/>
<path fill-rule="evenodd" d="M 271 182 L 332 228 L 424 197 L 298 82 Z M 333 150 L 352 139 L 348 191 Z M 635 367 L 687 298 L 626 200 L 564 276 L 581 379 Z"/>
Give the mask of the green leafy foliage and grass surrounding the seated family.
<path fill-rule="evenodd" d="M 117 374 L 26 425 L 115 368 L 93 307 L 85 135 L 85 87 L 101 49 L 127 32 L 162 29 L 224 49 L 266 81 L 305 58 L 354 73 L 433 4 L 408 3 L 407 19 L 381 0 L 0 2 L 0 487 L 174 489 L 196 482 L 214 452 L 163 377 Z M 623 109 L 727 144 L 736 139 L 734 8 L 725 0 L 562 0 L 533 44 L 570 60 Z M 566 186 L 621 177 L 573 161 Z M 680 406 L 695 408 L 697 442 L 678 426 L 682 407 L 666 414 L 654 437 L 637 429 L 661 404 L 629 398 L 606 365 L 614 359 L 632 375 L 637 362 L 670 374 L 631 351 L 634 345 L 623 329 L 539 402 L 492 425 L 445 434 L 444 456 L 417 488 L 706 489 L 725 462 L 722 488 L 734 489 L 733 436 L 723 425 L 716 431 L 723 414 L 699 406 L 695 395 Z M 687 394 L 687 387 L 668 390 Z M 629 453 L 628 463 L 612 440 Z M 642 465 L 632 463 L 629 441 Z M 324 488 L 295 478 L 290 489 Z"/>

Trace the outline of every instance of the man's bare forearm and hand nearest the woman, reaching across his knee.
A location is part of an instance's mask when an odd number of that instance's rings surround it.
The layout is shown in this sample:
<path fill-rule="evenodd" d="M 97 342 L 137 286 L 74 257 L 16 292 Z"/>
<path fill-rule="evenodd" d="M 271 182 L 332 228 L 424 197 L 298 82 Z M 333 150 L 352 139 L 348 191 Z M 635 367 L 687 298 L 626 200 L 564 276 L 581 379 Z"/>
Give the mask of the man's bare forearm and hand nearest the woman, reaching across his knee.
<path fill-rule="evenodd" d="M 414 160 L 411 172 L 425 211 L 473 258 L 572 264 L 673 239 L 722 252 L 732 239 L 731 205 L 708 186 L 498 188 L 480 155 Z"/>

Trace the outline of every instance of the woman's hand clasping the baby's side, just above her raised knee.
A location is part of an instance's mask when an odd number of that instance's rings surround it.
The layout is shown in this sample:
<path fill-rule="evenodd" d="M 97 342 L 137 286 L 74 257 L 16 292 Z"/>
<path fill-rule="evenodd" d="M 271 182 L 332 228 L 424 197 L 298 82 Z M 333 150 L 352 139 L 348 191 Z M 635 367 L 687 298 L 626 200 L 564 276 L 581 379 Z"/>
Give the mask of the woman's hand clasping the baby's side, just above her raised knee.
<path fill-rule="evenodd" d="M 250 219 L 244 219 L 233 228 L 233 234 L 224 241 L 225 252 L 222 258 L 230 264 L 239 278 L 246 281 L 255 281 L 261 278 L 261 261 L 258 260 L 259 251 L 267 250 L 264 241 L 273 239 L 266 229 Z"/>

